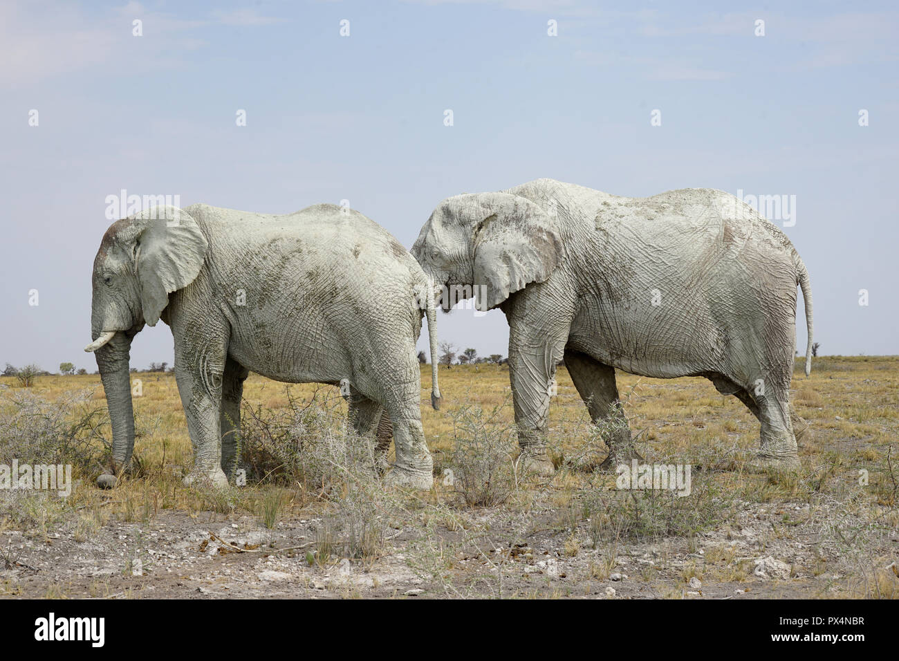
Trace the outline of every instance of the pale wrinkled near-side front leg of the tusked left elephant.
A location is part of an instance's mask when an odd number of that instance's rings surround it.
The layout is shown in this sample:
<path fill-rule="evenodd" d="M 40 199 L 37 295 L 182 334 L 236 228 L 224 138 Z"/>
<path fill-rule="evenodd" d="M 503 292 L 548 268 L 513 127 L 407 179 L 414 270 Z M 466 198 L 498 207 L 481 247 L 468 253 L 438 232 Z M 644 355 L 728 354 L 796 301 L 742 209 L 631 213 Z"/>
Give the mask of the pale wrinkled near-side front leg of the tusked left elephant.
<path fill-rule="evenodd" d="M 218 361 L 209 355 L 185 356 L 175 342 L 175 380 L 193 445 L 193 470 L 184 478 L 187 485 L 209 481 L 217 487 L 227 487 L 222 470 L 220 417 L 224 363 L 224 354 Z"/>

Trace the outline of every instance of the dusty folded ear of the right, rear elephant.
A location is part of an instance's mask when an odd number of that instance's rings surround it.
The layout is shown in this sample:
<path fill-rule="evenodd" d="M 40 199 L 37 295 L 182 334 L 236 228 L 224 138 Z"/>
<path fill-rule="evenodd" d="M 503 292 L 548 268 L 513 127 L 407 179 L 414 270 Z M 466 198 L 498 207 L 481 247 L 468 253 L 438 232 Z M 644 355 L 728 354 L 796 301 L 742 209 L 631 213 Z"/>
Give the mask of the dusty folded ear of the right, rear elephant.
<path fill-rule="evenodd" d="M 489 215 L 475 231 L 474 284 L 478 309 L 495 308 L 529 282 L 545 281 L 562 259 L 556 220 L 537 204 L 492 193 Z"/>

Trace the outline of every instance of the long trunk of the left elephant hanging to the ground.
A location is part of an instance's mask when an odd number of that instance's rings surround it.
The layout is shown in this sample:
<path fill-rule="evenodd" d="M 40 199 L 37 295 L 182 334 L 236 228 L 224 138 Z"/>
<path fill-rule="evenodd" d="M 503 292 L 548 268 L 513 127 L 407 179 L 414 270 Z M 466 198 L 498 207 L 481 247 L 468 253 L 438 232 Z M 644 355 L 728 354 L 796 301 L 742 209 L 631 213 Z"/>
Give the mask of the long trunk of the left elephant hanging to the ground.
<path fill-rule="evenodd" d="M 112 472 L 127 469 L 134 450 L 134 409 L 131 405 L 129 355 L 131 338 L 119 331 L 96 351 L 97 367 L 106 391 L 112 424 Z M 107 480 L 108 481 L 108 480 Z"/>

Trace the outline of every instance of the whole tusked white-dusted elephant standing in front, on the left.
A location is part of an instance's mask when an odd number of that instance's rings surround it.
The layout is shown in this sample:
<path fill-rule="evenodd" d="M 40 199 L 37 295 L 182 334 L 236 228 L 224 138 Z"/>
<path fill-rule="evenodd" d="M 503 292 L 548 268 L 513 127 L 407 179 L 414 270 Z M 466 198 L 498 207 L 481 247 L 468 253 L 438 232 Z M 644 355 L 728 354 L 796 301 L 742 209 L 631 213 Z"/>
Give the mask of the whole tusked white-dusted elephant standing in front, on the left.
<path fill-rule="evenodd" d="M 415 353 L 425 309 L 432 356 L 437 352 L 430 290 L 421 267 L 385 229 L 333 204 L 284 216 L 205 204 L 157 207 L 113 223 L 93 263 L 94 342 L 85 349 L 96 351 L 106 390 L 112 472 L 128 467 L 134 447 L 131 339 L 162 319 L 174 335 L 175 379 L 194 450 L 188 483 L 227 486 L 243 384 L 255 371 L 289 383 L 348 380 L 357 432 L 375 433 L 382 411 L 392 419 L 396 464 L 388 480 L 431 487 Z"/>

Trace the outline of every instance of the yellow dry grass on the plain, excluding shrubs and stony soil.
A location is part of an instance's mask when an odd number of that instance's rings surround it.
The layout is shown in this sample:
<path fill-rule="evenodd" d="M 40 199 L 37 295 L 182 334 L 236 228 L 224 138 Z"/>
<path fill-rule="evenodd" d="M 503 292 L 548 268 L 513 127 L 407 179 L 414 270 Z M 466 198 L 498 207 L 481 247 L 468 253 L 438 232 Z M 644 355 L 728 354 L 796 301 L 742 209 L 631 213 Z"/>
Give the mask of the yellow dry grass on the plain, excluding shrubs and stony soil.
<path fill-rule="evenodd" d="M 550 442 L 560 470 L 547 482 L 515 474 L 511 462 L 514 442 L 507 443 L 512 427 L 507 368 L 441 368 L 443 406 L 438 412 L 430 406 L 430 366 L 424 365 L 423 427 L 438 479 L 430 494 L 403 495 L 393 500 L 376 494 L 374 481 L 354 487 L 352 480 L 341 482 L 332 476 L 328 478 L 330 486 L 336 488 L 328 489 L 321 484 L 291 481 L 289 472 L 285 479 L 251 481 L 248 487 L 226 491 L 183 487 L 181 475 L 191 466 L 192 451 L 174 375 L 132 374 L 132 380 L 136 379 L 141 380 L 143 393 L 134 397 L 138 430 L 142 431 L 135 448 L 141 466 L 138 475 L 124 478 L 120 487 L 104 493 L 90 484 L 93 467 L 76 465 L 75 478 L 84 478 L 85 484 L 77 487 L 72 496 L 65 501 L 41 494 L 17 496 L 14 507 L 4 508 L 5 525 L 28 527 L 36 534 L 49 535 L 60 522 L 69 520 L 74 522 L 76 540 L 89 540 L 111 519 L 147 522 L 161 511 L 191 515 L 202 512 L 222 519 L 244 512 L 271 530 L 280 521 L 311 509 L 325 516 L 325 523 L 317 531 L 318 548 L 310 550 L 308 556 L 316 565 L 332 562 L 341 555 L 371 561 L 384 549 L 390 526 L 401 530 L 414 523 L 421 526 L 420 547 L 431 553 L 426 561 L 416 562 L 443 581 L 453 571 L 455 560 L 435 536 L 436 531 L 452 531 L 461 535 L 464 541 L 460 543 L 477 548 L 482 542 L 487 548 L 508 545 L 510 540 L 484 537 L 487 533 L 472 523 L 470 517 L 476 514 L 471 512 L 471 506 L 491 505 L 512 516 L 530 513 L 541 503 L 556 511 L 562 554 L 568 558 L 589 556 L 592 576 L 601 580 L 615 566 L 621 544 L 671 536 L 692 539 L 702 531 L 719 528 L 741 503 L 817 504 L 830 499 L 854 508 L 862 518 L 870 512 L 879 513 L 858 530 L 850 523 L 841 527 L 841 522 L 834 522 L 826 531 L 827 539 L 835 540 L 841 552 L 855 553 L 860 558 L 857 580 L 846 594 L 896 594 L 894 576 L 882 569 L 888 558 L 866 558 L 862 547 L 870 531 L 897 523 L 897 357 L 826 357 L 814 363 L 808 379 L 802 361 L 797 362 L 794 403 L 799 415 L 811 424 L 812 435 L 800 447 L 803 469 L 794 475 L 752 475 L 742 471 L 743 460 L 757 451 L 758 423 L 739 401 L 719 395 L 708 380 L 654 380 L 619 373 L 624 410 L 645 459 L 703 468 L 693 475 L 694 497 L 683 499 L 672 499 L 666 494 L 622 495 L 610 491 L 614 476 L 594 471 L 604 457 L 604 446 L 564 368 L 556 375 L 558 394 L 552 399 L 549 414 Z M 291 401 L 307 403 L 316 392 L 321 395 L 323 389 L 328 390 L 316 384 L 288 386 L 253 374 L 245 383 L 245 403 L 255 411 L 268 412 L 267 419 L 271 419 L 271 415 L 288 410 Z M 100 378 L 95 375 L 39 377 L 28 394 L 52 402 L 82 391 L 89 394 L 91 405 L 104 408 Z M 13 415 L 11 397 L 20 393 L 22 389 L 14 378 L 0 378 L 0 417 L 4 420 Z M 346 407 L 335 395 L 336 389 L 327 396 L 328 410 L 329 415 L 339 418 L 345 415 Z M 478 417 L 473 411 L 485 413 Z M 96 427 L 92 426 L 89 432 L 95 436 Z M 99 424 L 99 432 L 108 438 L 108 424 L 105 428 Z M 481 447 L 485 442 L 495 445 L 492 439 L 500 439 L 503 445 L 494 448 L 495 458 Z M 96 439 L 95 442 L 96 449 L 104 451 L 102 443 Z M 477 493 L 483 485 L 463 485 L 460 491 L 459 487 L 443 483 L 444 471 L 458 469 L 465 459 L 460 450 L 477 454 L 470 458 L 474 462 L 463 467 L 463 474 L 467 468 L 469 475 L 474 475 L 475 470 L 485 471 L 491 479 L 491 471 L 499 475 L 500 482 L 492 483 L 496 493 Z M 484 465 L 476 462 L 485 459 Z M 867 484 L 861 484 L 861 476 L 867 478 Z M 462 498 L 458 497 L 460 493 Z M 378 526 L 371 525 L 375 519 Z M 794 514 L 785 514 L 772 536 L 789 536 L 796 525 L 794 519 Z M 503 565 L 499 560 L 491 562 L 497 563 L 498 582 L 490 586 L 489 592 L 504 594 Z M 747 562 L 726 551 L 710 551 L 706 563 L 707 577 L 742 582 L 751 576 Z M 645 568 L 647 576 L 653 577 L 655 572 L 654 568 Z M 682 580 L 689 580 L 690 576 L 702 576 L 702 570 L 681 569 Z M 448 594 L 458 594 L 456 587 L 444 588 Z M 0 594 L 7 589 L 13 588 L 0 584 Z"/>

